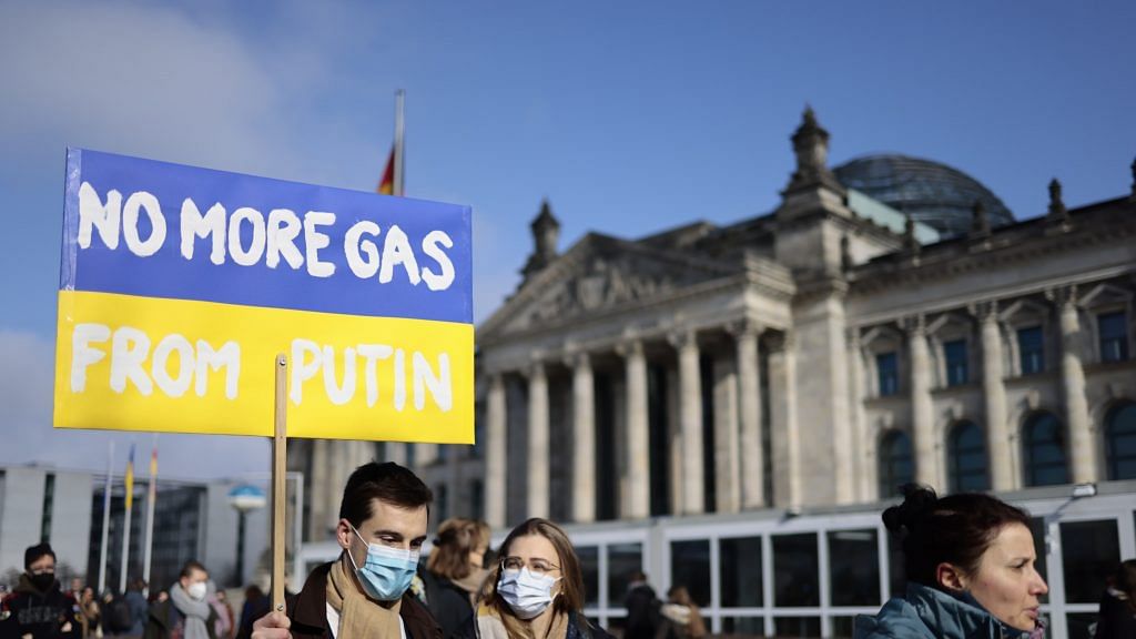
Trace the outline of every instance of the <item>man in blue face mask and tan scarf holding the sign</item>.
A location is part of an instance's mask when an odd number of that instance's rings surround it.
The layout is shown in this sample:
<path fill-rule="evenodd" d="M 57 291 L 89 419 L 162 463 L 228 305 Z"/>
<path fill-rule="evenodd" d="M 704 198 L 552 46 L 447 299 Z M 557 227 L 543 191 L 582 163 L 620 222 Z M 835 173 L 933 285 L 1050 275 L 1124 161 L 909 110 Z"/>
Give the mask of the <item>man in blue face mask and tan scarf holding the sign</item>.
<path fill-rule="evenodd" d="M 398 464 L 351 473 L 335 537 L 340 558 L 317 567 L 289 601 L 253 625 L 253 639 L 435 639 L 442 629 L 407 594 L 426 540 L 431 491 Z"/>

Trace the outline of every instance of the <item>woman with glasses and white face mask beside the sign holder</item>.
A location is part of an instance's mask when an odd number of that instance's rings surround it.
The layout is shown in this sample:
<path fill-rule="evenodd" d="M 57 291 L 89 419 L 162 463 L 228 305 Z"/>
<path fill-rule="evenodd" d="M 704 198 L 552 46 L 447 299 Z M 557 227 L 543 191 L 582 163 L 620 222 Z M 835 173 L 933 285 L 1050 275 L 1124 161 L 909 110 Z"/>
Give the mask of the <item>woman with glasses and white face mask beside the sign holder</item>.
<path fill-rule="evenodd" d="M 463 637 L 609 639 L 584 616 L 584 574 L 568 536 L 532 518 L 512 529 Z"/>

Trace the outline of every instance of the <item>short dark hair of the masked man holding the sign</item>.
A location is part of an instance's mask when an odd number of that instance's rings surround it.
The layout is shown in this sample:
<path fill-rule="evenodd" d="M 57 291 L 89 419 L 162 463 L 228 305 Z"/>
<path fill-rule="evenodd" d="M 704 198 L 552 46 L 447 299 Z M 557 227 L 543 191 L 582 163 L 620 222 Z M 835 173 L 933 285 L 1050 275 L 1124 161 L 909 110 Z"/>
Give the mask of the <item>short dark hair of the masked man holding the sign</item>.
<path fill-rule="evenodd" d="M 409 511 L 423 506 L 429 508 L 434 493 L 409 468 L 394 462 L 370 462 L 356 468 L 348 478 L 343 500 L 340 501 L 340 518 L 359 528 L 374 515 L 375 499 Z"/>

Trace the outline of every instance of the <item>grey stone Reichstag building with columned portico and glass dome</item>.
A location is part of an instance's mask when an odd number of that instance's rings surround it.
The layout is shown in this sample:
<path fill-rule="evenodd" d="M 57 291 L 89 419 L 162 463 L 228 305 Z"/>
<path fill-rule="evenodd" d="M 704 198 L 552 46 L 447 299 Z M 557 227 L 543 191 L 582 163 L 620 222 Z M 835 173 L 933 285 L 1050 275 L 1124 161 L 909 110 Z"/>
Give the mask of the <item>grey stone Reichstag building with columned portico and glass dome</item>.
<path fill-rule="evenodd" d="M 1052 636 L 1080 636 L 1136 556 L 1136 163 L 1114 199 L 1054 180 L 1018 219 L 933 160 L 829 167 L 811 110 L 791 141 L 779 206 L 727 226 L 561 250 L 544 202 L 477 329 L 477 446 L 378 455 L 427 479 L 435 520 L 569 524 L 602 623 L 643 569 L 737 634 L 851 636 L 902 588 L 896 488 L 994 491 L 1036 517 Z M 310 541 L 373 446 L 300 443 Z"/>

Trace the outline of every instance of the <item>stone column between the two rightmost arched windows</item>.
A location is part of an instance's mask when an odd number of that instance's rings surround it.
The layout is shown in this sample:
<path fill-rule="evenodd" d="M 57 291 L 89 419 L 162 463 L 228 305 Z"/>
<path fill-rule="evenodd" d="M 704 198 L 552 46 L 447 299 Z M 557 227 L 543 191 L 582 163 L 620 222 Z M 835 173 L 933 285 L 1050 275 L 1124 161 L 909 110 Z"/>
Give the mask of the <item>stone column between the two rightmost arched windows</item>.
<path fill-rule="evenodd" d="M 1099 479 L 1096 447 L 1088 421 L 1085 397 L 1085 368 L 1080 362 L 1080 318 L 1077 312 L 1077 287 L 1066 287 L 1052 294 L 1061 316 L 1061 384 L 1064 393 L 1066 420 L 1069 424 L 1069 457 L 1074 483 Z"/>

